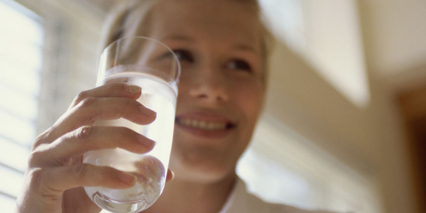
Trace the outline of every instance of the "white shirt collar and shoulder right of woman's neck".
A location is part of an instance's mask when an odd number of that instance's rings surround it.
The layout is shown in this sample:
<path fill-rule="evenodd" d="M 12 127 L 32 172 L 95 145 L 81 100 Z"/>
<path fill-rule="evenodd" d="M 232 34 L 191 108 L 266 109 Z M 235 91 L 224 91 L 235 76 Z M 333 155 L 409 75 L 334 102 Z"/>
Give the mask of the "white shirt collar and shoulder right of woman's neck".
<path fill-rule="evenodd" d="M 271 204 L 247 192 L 246 184 L 238 178 L 234 189 L 219 213 L 330 213 L 308 211 L 282 204 Z"/>

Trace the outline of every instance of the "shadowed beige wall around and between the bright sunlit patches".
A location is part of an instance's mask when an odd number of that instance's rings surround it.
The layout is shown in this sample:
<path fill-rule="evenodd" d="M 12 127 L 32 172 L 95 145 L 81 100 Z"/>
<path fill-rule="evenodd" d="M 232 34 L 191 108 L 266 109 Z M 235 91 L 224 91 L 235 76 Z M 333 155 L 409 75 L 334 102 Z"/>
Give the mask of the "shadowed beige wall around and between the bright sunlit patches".
<path fill-rule="evenodd" d="M 370 103 L 354 106 L 318 73 L 321 67 L 278 43 L 267 113 L 373 180 L 385 212 L 414 213 L 410 156 L 396 95 L 413 82 L 426 82 L 425 1 L 357 3 Z"/>

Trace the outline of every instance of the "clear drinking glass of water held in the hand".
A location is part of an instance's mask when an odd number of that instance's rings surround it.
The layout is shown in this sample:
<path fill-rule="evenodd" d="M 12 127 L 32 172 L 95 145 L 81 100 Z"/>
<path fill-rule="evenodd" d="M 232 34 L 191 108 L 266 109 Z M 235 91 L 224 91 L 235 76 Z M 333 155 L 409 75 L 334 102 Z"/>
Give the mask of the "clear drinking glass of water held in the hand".
<path fill-rule="evenodd" d="M 110 166 L 132 173 L 137 182 L 130 189 L 85 187 L 87 195 L 99 207 L 114 213 L 136 213 L 150 207 L 160 196 L 170 157 L 180 64 L 164 44 L 146 37 L 129 37 L 110 44 L 101 55 L 97 86 L 126 83 L 142 88 L 137 100 L 157 112 L 156 120 L 139 125 L 124 118 L 98 121 L 99 126 L 124 126 L 154 141 L 147 154 L 126 150 L 91 151 L 83 162 Z"/>

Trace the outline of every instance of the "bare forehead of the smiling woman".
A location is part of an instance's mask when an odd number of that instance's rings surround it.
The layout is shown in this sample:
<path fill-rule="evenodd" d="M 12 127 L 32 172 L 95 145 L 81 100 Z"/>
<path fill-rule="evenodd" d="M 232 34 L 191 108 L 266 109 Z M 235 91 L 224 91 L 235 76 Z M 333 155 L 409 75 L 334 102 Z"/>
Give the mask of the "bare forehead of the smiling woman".
<path fill-rule="evenodd" d="M 160 0 L 153 10 L 151 36 L 190 35 L 195 38 L 259 43 L 255 7 L 237 0 Z"/>

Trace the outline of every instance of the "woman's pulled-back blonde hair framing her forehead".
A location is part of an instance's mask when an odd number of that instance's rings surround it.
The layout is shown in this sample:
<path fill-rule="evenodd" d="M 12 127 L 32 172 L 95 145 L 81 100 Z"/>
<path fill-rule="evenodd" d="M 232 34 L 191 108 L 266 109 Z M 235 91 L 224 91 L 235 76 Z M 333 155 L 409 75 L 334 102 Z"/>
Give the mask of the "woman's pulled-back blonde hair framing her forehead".
<path fill-rule="evenodd" d="M 262 80 L 266 85 L 268 74 L 268 58 L 273 43 L 273 37 L 261 17 L 261 8 L 258 0 L 235 0 L 248 3 L 258 16 L 261 25 L 261 60 L 264 75 Z M 111 9 L 104 23 L 103 37 L 100 41 L 100 50 L 104 50 L 117 39 L 130 36 L 148 36 L 151 30 L 151 13 L 159 0 L 120 0 Z"/>

